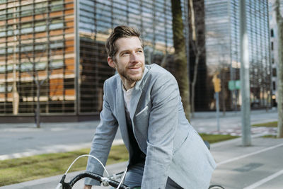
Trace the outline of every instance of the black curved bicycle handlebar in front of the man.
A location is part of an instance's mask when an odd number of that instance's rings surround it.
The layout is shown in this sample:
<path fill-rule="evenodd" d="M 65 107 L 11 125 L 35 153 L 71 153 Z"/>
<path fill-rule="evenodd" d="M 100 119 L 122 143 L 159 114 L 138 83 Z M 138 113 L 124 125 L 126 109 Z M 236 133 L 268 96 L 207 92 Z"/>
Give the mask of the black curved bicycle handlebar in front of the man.
<path fill-rule="evenodd" d="M 117 181 L 114 181 L 110 178 L 107 178 L 107 177 L 103 177 L 103 176 L 100 176 L 96 173 L 91 173 L 91 172 L 84 172 L 84 173 L 80 173 L 79 175 L 75 176 L 74 178 L 71 179 L 71 181 L 69 183 L 65 183 L 65 178 L 66 178 L 66 175 L 62 176 L 62 179 L 59 183 L 59 185 L 57 185 L 57 188 L 60 188 L 62 186 L 62 189 L 71 189 L 73 188 L 74 184 L 81 180 L 81 178 L 86 178 L 86 177 L 89 177 L 89 178 L 93 178 L 94 180 L 96 181 L 99 181 L 100 183 L 103 183 L 103 185 L 107 186 L 107 185 L 111 185 L 112 187 L 114 188 L 117 188 L 120 183 L 117 182 Z M 129 189 L 129 187 L 127 185 L 124 185 L 124 184 L 121 184 L 119 189 Z"/>

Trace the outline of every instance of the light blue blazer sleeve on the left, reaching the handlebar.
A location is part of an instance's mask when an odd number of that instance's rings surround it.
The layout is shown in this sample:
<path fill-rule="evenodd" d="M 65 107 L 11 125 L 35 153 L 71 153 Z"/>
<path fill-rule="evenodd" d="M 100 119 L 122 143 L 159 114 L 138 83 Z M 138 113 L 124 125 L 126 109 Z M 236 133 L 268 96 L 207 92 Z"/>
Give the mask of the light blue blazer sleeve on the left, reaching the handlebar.
<path fill-rule="evenodd" d="M 103 95 L 103 110 L 100 113 L 100 124 L 96 128 L 96 133 L 93 137 L 93 142 L 91 143 L 90 155 L 98 158 L 105 166 L 110 152 L 112 142 L 114 140 L 115 134 L 117 132 L 118 123 L 115 116 L 112 114 L 110 104 L 108 103 L 107 97 L 107 86 L 106 81 L 104 84 L 104 95 Z M 91 157 L 88 157 L 88 164 L 86 166 L 86 171 L 91 171 L 103 175 L 103 166 Z M 85 179 L 86 185 L 100 185 L 98 181 L 91 178 Z"/>

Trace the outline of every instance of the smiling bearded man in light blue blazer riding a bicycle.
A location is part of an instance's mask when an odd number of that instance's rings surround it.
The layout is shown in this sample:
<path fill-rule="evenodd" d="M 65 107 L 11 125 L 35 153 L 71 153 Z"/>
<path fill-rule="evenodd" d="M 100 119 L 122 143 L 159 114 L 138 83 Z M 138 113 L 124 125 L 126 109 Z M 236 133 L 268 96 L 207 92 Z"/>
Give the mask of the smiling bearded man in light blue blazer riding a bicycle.
<path fill-rule="evenodd" d="M 108 64 L 118 74 L 104 83 L 103 110 L 90 154 L 105 164 L 120 127 L 129 151 L 126 185 L 207 189 L 215 162 L 185 118 L 174 76 L 157 64 L 144 64 L 142 40 L 134 28 L 114 28 L 106 50 Z M 88 159 L 86 169 L 103 174 L 95 159 Z M 85 188 L 98 184 L 86 178 Z"/>

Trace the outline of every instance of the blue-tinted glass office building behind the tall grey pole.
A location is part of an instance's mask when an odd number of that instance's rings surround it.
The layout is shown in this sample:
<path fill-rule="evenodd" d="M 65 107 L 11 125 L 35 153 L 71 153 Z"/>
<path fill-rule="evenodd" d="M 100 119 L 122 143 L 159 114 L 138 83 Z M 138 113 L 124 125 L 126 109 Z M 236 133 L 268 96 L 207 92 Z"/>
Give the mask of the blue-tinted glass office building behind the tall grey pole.
<path fill-rule="evenodd" d="M 205 0 L 208 75 L 219 73 L 221 107 L 241 105 L 238 89 L 229 81 L 240 79 L 239 1 Z M 250 103 L 252 108 L 271 105 L 271 64 L 267 0 L 246 0 L 246 24 L 250 60 Z M 212 85 L 212 84 L 211 84 Z M 213 101 L 211 106 L 214 106 Z"/>

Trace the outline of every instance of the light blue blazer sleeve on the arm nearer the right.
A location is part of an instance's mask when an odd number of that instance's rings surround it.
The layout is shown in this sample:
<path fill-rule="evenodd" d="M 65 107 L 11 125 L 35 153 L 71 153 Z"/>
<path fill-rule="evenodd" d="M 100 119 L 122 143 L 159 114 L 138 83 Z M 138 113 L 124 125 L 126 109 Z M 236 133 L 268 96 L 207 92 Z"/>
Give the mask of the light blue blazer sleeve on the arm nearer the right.
<path fill-rule="evenodd" d="M 152 107 L 142 189 L 163 189 L 166 186 L 178 125 L 179 98 L 178 84 L 173 75 L 166 72 L 158 76 L 151 91 Z"/>

